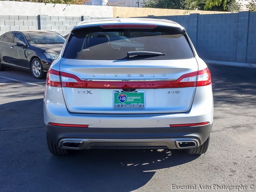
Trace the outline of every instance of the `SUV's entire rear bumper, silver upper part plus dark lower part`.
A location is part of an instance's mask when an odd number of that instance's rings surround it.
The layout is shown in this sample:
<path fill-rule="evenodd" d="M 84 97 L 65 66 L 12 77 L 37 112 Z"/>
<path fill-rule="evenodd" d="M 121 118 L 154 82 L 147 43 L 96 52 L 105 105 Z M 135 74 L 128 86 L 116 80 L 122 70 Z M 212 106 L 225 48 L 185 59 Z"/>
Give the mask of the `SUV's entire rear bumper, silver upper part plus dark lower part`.
<path fill-rule="evenodd" d="M 72 99 L 72 98 L 70 98 Z M 52 126 L 85 124 L 88 128 Z M 170 127 L 170 124 L 210 122 L 208 125 Z M 62 139 L 83 141 L 82 148 L 177 148 L 177 139 L 197 140 L 203 144 L 212 130 L 212 86 L 196 88 L 191 109 L 171 114 L 90 114 L 67 110 L 62 88 L 46 86 L 44 123 L 51 140 L 61 146 Z M 79 140 L 78 140 L 79 141 Z"/>

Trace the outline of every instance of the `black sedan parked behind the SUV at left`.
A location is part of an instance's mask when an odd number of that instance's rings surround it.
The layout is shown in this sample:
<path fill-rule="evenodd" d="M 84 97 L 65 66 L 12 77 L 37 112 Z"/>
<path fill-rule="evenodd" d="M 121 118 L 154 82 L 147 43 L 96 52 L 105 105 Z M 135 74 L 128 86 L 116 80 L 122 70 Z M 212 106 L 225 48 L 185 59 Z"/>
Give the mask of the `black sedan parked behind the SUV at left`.
<path fill-rule="evenodd" d="M 35 78 L 44 78 L 65 42 L 53 31 L 10 31 L 0 36 L 0 71 L 5 67 L 31 70 Z"/>

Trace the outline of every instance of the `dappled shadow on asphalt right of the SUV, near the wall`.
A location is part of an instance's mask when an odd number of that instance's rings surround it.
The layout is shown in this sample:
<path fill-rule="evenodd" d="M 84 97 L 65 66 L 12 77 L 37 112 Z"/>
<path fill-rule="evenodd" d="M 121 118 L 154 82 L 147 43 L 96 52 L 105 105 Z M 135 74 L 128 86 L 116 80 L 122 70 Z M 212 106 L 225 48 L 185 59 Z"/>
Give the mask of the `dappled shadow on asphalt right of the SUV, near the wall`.
<path fill-rule="evenodd" d="M 214 105 L 256 101 L 256 69 L 208 64 Z"/>

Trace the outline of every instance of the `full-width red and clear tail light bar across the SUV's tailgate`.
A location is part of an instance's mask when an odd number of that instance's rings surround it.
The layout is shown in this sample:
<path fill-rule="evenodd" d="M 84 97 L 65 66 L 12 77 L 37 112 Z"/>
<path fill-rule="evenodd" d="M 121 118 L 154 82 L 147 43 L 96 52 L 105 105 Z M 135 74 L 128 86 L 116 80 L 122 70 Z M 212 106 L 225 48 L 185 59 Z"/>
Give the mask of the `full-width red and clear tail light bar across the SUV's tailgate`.
<path fill-rule="evenodd" d="M 47 73 L 46 84 L 53 87 L 71 88 L 98 88 L 98 89 L 123 89 L 123 88 L 182 88 L 206 86 L 211 84 L 211 75 L 208 68 L 180 76 L 177 80 L 156 81 L 90 81 L 81 80 L 73 74 L 58 72 L 50 69 Z"/>

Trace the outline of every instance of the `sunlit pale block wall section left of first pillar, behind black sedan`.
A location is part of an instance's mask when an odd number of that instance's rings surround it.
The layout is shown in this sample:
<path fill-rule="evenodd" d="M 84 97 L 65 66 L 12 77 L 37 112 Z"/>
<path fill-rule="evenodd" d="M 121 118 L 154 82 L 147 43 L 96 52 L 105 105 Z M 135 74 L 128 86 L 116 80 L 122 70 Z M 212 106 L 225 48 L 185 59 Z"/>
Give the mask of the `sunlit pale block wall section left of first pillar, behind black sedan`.
<path fill-rule="evenodd" d="M 37 16 L 0 15 L 0 35 L 11 30 L 38 29 Z"/>

